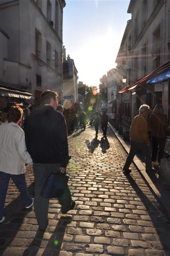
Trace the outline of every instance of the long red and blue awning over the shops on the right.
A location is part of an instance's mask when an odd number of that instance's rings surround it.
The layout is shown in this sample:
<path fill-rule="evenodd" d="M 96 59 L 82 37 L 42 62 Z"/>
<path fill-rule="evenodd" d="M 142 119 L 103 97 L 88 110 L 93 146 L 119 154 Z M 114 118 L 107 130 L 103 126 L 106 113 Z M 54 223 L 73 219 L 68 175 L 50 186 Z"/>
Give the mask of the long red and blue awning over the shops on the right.
<path fill-rule="evenodd" d="M 156 79 L 156 80 L 154 80 L 154 79 Z M 163 80 L 161 80 L 161 79 L 163 79 Z M 165 81 L 167 79 L 170 79 L 170 61 L 163 64 L 161 67 L 158 67 L 156 70 L 153 70 L 153 72 L 149 73 L 147 76 L 144 76 L 142 79 L 139 79 L 135 83 L 124 87 L 118 93 L 126 93 L 129 90 L 133 90 L 135 87 L 137 87 L 140 84 L 159 83 L 159 82 Z M 150 82 L 150 81 L 154 81 L 154 82 Z"/>

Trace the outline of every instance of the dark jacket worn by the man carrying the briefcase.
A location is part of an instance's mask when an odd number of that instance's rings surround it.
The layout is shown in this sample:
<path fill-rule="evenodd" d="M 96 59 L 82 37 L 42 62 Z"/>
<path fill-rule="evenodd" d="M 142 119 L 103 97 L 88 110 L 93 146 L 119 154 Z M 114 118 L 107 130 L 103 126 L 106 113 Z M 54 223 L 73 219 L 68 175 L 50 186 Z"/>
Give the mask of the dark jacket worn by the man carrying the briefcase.
<path fill-rule="evenodd" d="M 69 162 L 66 121 L 49 105 L 32 111 L 27 119 L 26 147 L 33 163 Z"/>

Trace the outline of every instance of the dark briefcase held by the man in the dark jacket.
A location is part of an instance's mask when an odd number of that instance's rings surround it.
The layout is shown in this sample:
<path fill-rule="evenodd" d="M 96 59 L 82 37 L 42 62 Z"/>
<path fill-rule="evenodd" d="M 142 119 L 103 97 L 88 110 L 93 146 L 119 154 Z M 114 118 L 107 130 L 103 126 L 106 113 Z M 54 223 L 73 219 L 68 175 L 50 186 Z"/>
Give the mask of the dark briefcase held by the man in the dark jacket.
<path fill-rule="evenodd" d="M 58 173 L 50 173 L 40 192 L 43 198 L 60 198 L 63 195 L 63 191 L 66 189 L 69 176 Z"/>

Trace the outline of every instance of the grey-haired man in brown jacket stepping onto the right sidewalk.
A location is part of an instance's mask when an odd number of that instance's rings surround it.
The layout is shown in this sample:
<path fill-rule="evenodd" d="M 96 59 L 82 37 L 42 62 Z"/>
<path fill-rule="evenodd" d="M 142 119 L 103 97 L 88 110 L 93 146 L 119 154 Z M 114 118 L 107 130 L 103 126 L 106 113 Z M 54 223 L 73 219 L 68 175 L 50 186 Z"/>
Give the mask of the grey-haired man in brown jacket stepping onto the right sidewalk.
<path fill-rule="evenodd" d="M 130 126 L 130 152 L 127 156 L 127 160 L 123 168 L 125 173 L 131 172 L 129 166 L 132 163 L 133 157 L 138 150 L 140 150 L 145 156 L 146 172 L 153 171 L 150 153 L 150 140 L 147 128 L 147 117 L 149 114 L 149 109 L 150 107 L 148 105 L 141 105 L 139 108 L 139 115 L 133 118 L 132 124 Z"/>

